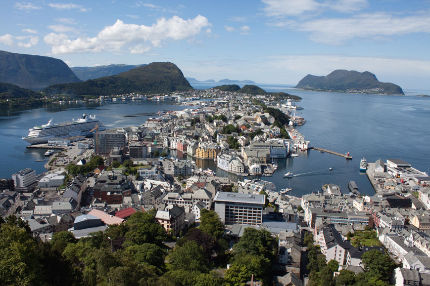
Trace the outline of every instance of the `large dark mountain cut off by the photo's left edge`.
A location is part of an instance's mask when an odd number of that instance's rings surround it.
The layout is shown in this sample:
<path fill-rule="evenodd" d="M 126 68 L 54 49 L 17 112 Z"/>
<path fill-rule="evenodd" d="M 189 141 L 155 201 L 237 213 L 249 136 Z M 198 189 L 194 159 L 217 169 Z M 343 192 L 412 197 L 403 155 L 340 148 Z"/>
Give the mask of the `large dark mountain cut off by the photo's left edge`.
<path fill-rule="evenodd" d="M 0 82 L 41 88 L 80 80 L 62 60 L 0 51 Z"/>

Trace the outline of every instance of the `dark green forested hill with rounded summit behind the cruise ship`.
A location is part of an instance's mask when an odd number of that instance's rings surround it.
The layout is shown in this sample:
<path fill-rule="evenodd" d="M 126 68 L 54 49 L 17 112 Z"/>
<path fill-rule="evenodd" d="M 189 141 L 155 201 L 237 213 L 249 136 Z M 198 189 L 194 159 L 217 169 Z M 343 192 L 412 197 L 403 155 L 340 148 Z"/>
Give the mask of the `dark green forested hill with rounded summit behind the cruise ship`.
<path fill-rule="evenodd" d="M 169 62 L 155 62 L 130 71 L 85 82 L 54 84 L 48 94 L 115 95 L 130 92 L 162 93 L 192 89 L 181 70 Z"/>

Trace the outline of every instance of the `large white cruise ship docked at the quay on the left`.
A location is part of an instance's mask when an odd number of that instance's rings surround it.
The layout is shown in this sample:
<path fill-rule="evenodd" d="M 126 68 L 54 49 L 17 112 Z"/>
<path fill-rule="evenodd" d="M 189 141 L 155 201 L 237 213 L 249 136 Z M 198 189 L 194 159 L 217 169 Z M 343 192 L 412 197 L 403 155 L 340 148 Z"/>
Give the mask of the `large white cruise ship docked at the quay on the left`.
<path fill-rule="evenodd" d="M 47 124 L 34 126 L 30 133 L 22 137 L 30 144 L 47 143 L 49 139 L 67 138 L 71 136 L 88 136 L 98 126 L 98 131 L 106 130 L 104 124 L 96 116 L 83 114 L 81 118 L 65 123 L 52 123 L 52 118 Z"/>

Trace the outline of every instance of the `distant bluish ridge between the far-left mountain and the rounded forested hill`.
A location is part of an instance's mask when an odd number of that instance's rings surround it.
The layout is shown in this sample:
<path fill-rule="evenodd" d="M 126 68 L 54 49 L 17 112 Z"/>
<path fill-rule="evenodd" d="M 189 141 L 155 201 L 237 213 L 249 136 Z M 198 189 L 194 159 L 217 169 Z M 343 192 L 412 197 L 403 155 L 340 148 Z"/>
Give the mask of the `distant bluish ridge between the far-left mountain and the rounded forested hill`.
<path fill-rule="evenodd" d="M 114 76 L 120 73 L 130 71 L 132 69 L 144 66 L 142 65 L 108 65 L 96 67 L 72 67 L 70 68 L 73 73 L 81 80 L 94 80 L 103 77 Z"/>

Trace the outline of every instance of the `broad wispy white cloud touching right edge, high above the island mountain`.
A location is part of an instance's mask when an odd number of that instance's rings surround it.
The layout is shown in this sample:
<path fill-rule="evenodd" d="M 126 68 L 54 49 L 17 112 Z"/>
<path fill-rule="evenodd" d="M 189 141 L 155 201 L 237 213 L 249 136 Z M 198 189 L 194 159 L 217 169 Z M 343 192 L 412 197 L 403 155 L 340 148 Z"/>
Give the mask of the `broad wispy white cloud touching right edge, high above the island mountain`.
<path fill-rule="evenodd" d="M 323 18 L 298 23 L 297 30 L 310 32 L 311 41 L 337 45 L 354 38 L 381 39 L 411 33 L 430 33 L 430 16 L 361 14 L 352 18 Z"/>

